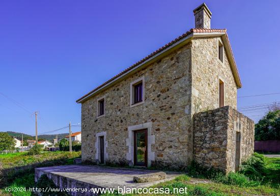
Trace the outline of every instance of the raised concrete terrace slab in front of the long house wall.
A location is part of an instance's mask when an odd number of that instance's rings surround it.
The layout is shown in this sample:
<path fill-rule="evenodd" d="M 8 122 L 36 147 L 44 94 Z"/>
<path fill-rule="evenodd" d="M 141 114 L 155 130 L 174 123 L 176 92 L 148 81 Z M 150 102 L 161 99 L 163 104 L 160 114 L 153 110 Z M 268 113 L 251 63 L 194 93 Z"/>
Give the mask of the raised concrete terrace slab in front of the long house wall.
<path fill-rule="evenodd" d="M 158 171 L 141 170 L 141 169 L 125 169 L 120 167 L 105 167 L 98 165 L 62 165 L 51 167 L 40 167 L 35 169 L 35 181 L 41 175 L 46 174 L 49 179 L 52 179 L 55 185 L 60 188 L 144 188 L 154 184 L 173 180 L 180 173 L 166 172 L 166 179 L 147 182 L 134 183 L 133 176 L 151 174 Z M 72 195 L 87 195 L 87 193 L 79 194 L 78 192 L 71 193 Z M 88 195 L 92 195 L 88 194 Z"/>

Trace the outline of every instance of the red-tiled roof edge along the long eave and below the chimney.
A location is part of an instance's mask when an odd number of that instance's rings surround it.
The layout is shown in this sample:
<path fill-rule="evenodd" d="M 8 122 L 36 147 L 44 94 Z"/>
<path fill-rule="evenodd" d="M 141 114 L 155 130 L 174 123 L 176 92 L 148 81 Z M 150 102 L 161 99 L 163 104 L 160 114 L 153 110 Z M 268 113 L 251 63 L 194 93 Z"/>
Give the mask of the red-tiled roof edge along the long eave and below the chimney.
<path fill-rule="evenodd" d="M 82 96 L 81 98 L 77 99 L 76 102 L 79 102 L 81 99 L 87 97 L 88 95 L 90 95 L 91 93 L 97 91 L 98 89 L 100 89 L 101 87 L 105 86 L 107 83 L 109 83 L 110 81 L 113 81 L 114 79 L 116 79 L 117 77 L 125 74 L 126 72 L 128 72 L 129 70 L 133 69 L 134 67 L 140 65 L 141 63 L 145 62 L 146 60 L 150 59 L 151 57 L 153 57 L 154 55 L 156 55 L 157 53 L 161 52 L 162 50 L 166 49 L 167 47 L 175 44 L 176 42 L 182 40 L 183 38 L 187 37 L 188 35 L 190 35 L 191 33 L 226 33 L 227 30 L 226 29 L 190 29 L 190 31 L 182 34 L 181 36 L 177 37 L 176 39 L 172 40 L 171 42 L 165 44 L 164 46 L 162 46 L 161 48 L 157 49 L 156 51 L 152 52 L 151 54 L 149 54 L 147 57 L 145 57 L 144 59 L 138 61 L 137 63 L 133 64 L 132 66 L 130 66 L 129 68 L 125 69 L 124 71 L 122 71 L 121 73 L 117 74 L 116 76 L 112 77 L 111 79 L 105 81 L 104 83 L 102 83 L 102 85 L 96 87 L 94 90 L 90 91 L 89 93 L 87 93 L 86 95 Z M 228 37 L 228 36 L 227 36 Z"/>

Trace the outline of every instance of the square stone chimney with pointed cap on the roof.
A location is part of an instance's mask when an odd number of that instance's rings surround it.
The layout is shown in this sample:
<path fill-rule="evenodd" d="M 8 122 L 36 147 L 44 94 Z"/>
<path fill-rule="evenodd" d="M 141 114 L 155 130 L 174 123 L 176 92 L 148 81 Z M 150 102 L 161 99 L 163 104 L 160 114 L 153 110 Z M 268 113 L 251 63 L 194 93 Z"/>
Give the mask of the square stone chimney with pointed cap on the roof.
<path fill-rule="evenodd" d="M 211 29 L 210 21 L 212 13 L 205 3 L 193 10 L 195 29 Z"/>

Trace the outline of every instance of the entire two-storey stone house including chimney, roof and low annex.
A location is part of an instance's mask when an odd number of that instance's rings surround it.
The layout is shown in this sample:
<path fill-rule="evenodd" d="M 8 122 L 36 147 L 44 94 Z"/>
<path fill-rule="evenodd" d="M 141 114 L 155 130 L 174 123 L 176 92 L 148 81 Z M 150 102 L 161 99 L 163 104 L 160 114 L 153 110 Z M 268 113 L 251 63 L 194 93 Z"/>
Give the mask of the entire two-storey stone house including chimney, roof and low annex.
<path fill-rule="evenodd" d="M 104 82 L 81 103 L 82 161 L 225 172 L 254 151 L 254 122 L 236 110 L 241 81 L 225 29 L 205 4 L 195 29 Z"/>

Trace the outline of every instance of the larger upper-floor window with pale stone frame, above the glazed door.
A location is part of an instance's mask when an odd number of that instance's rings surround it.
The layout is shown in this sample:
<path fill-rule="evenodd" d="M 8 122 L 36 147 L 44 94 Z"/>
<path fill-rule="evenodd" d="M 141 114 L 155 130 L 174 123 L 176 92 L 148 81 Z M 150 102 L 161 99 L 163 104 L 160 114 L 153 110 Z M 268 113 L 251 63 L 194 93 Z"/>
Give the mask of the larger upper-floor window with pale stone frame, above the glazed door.
<path fill-rule="evenodd" d="M 136 106 L 145 101 L 145 81 L 144 77 L 130 83 L 130 106 Z"/>

